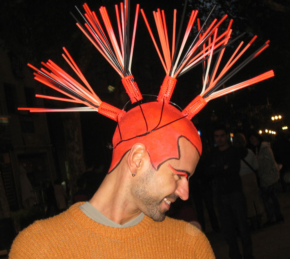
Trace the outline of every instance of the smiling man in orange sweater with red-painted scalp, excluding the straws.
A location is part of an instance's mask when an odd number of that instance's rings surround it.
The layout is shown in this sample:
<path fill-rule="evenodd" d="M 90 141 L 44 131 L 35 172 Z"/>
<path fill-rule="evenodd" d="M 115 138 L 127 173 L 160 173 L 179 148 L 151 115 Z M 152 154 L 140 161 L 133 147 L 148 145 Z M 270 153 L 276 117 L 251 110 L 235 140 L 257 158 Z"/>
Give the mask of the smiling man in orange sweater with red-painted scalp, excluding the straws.
<path fill-rule="evenodd" d="M 205 235 L 165 216 L 201 153 L 200 137 L 170 104 L 145 103 L 123 115 L 104 181 L 87 203 L 19 233 L 9 258 L 214 258 Z"/>

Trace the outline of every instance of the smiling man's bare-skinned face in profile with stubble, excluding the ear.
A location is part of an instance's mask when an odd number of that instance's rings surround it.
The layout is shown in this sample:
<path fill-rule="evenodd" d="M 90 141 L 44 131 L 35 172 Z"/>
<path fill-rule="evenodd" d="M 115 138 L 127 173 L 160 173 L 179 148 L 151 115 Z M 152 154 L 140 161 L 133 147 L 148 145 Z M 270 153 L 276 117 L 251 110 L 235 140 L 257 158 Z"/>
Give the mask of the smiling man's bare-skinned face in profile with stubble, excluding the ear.
<path fill-rule="evenodd" d="M 185 138 L 180 138 L 180 159 L 170 159 L 159 170 L 151 166 L 131 188 L 139 209 L 154 221 L 165 218 L 170 203 L 178 197 L 188 199 L 188 179 L 193 174 L 199 155 Z"/>

